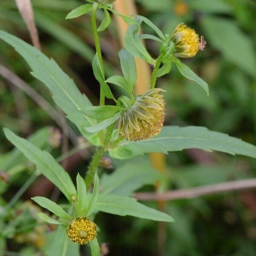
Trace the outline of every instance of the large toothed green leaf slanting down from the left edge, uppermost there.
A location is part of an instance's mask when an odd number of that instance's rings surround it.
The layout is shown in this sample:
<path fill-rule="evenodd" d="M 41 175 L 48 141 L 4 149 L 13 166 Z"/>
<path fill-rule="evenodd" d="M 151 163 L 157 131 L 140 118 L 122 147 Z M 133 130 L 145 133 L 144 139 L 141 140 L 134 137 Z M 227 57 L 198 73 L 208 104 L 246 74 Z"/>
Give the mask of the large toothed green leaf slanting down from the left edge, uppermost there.
<path fill-rule="evenodd" d="M 81 112 L 82 109 L 92 104 L 85 95 L 81 94 L 74 81 L 61 70 L 53 59 L 47 58 L 37 48 L 4 31 L 0 31 L 0 38 L 15 47 L 15 50 L 32 68 L 32 76 L 43 82 L 51 90 L 55 103 L 79 128 L 84 137 L 93 143 L 93 135 L 86 133 L 81 126 L 82 122 L 87 122 L 88 126 L 96 124 L 95 121 L 84 116 Z"/>

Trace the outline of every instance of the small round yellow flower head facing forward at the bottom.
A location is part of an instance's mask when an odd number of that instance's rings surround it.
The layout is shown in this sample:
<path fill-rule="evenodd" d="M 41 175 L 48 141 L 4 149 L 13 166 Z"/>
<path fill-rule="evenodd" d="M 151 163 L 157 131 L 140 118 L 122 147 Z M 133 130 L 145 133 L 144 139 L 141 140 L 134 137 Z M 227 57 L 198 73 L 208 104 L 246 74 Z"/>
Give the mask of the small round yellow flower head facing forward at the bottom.
<path fill-rule="evenodd" d="M 76 244 L 87 244 L 96 235 L 96 225 L 89 218 L 75 218 L 67 227 L 67 235 Z"/>

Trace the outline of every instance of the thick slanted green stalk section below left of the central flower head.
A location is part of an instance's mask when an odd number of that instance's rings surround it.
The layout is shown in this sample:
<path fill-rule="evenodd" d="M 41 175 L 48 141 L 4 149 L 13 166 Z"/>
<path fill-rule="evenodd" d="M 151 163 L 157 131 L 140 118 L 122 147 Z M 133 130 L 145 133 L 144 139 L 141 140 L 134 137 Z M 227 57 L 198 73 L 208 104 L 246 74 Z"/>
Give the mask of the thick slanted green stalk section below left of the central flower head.
<path fill-rule="evenodd" d="M 96 170 L 99 167 L 100 161 L 102 160 L 102 157 L 104 155 L 105 149 L 108 148 L 109 141 L 111 139 L 111 135 L 113 133 L 113 130 L 115 128 L 116 122 L 114 122 L 111 126 L 109 126 L 104 139 L 104 146 L 98 147 L 93 155 L 93 158 L 90 162 L 90 165 L 88 167 L 88 171 L 86 173 L 86 176 L 84 178 L 85 185 L 87 187 L 87 190 L 90 189 L 91 183 L 94 179 L 94 175 Z"/>

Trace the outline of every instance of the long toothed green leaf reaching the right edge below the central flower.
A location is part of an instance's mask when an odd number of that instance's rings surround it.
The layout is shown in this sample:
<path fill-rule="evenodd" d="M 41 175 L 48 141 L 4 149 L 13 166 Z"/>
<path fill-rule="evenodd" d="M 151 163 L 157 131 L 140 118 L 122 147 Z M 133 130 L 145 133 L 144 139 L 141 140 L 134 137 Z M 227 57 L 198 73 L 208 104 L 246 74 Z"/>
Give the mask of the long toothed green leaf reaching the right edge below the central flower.
<path fill-rule="evenodd" d="M 109 153 L 112 157 L 124 159 L 151 152 L 167 154 L 168 151 L 187 148 L 215 150 L 256 158 L 256 146 L 199 126 L 164 126 L 160 134 L 151 139 L 137 142 L 124 140 L 116 148 L 110 149 Z"/>

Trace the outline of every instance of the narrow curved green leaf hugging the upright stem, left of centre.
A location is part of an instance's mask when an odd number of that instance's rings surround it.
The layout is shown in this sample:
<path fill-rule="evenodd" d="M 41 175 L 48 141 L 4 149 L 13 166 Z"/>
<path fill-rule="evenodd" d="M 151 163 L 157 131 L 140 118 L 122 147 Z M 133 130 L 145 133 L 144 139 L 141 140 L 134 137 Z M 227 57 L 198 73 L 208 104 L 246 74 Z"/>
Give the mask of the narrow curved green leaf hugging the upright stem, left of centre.
<path fill-rule="evenodd" d="M 92 66 L 93 66 L 93 74 L 97 79 L 97 81 L 99 82 L 100 86 L 102 87 L 102 90 L 104 91 L 105 96 L 108 99 L 115 99 L 110 88 L 108 87 L 108 84 L 106 84 L 105 82 L 105 78 L 103 76 L 102 69 L 99 64 L 99 57 L 97 53 L 93 58 Z"/>

